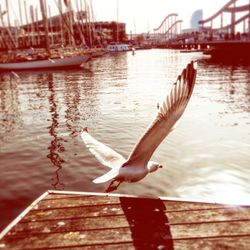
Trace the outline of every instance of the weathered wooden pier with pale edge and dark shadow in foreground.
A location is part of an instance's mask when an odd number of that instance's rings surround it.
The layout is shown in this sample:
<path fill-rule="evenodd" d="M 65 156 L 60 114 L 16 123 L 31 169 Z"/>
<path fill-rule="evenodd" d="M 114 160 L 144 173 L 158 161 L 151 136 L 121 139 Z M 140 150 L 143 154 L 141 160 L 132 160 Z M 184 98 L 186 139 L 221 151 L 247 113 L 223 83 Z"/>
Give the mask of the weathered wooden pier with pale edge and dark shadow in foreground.
<path fill-rule="evenodd" d="M 0 249 L 249 249 L 250 206 L 48 191 Z"/>

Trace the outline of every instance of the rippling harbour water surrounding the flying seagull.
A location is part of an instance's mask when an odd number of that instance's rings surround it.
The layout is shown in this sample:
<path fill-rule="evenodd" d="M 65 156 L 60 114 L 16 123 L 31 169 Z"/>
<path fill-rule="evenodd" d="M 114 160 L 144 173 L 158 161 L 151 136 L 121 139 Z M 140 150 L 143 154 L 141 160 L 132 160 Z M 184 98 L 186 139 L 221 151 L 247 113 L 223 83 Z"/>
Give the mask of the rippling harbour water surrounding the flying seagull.
<path fill-rule="evenodd" d="M 182 67 L 197 84 L 177 129 L 153 159 L 164 168 L 119 193 L 249 202 L 250 67 L 199 53 L 146 50 L 107 55 L 88 69 L 0 75 L 0 221 L 48 189 L 102 192 L 107 170 L 81 142 L 87 126 L 128 156 Z"/>

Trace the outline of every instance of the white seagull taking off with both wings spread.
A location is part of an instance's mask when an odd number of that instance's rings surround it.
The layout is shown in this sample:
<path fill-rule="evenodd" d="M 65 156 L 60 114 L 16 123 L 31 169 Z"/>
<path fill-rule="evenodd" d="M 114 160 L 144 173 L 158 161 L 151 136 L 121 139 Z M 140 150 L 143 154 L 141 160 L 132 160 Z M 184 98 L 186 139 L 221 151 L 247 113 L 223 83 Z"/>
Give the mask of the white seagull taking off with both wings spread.
<path fill-rule="evenodd" d="M 106 174 L 94 179 L 94 183 L 111 181 L 106 192 L 112 192 L 123 182 L 140 181 L 148 173 L 162 168 L 160 163 L 150 161 L 150 158 L 183 114 L 193 92 L 196 72 L 197 65 L 191 61 L 177 77 L 170 93 L 159 105 L 153 122 L 127 159 L 92 137 L 86 127 L 82 129 L 81 138 L 86 147 L 102 165 L 110 168 Z"/>

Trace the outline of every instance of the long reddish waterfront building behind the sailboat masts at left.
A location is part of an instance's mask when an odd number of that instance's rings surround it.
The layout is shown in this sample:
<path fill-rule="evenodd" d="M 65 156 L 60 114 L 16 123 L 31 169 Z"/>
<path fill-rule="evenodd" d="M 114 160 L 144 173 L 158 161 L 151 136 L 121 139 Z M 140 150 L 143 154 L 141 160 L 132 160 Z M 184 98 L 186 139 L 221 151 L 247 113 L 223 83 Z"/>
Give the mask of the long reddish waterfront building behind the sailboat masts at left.
<path fill-rule="evenodd" d="M 90 22 L 84 13 L 66 12 L 47 19 L 49 43 L 58 46 L 106 46 L 111 42 L 125 41 L 126 24 L 112 22 Z M 73 20 L 70 22 L 69 20 Z M 0 27 L 0 50 L 43 48 L 45 29 L 43 20 L 20 27 Z"/>

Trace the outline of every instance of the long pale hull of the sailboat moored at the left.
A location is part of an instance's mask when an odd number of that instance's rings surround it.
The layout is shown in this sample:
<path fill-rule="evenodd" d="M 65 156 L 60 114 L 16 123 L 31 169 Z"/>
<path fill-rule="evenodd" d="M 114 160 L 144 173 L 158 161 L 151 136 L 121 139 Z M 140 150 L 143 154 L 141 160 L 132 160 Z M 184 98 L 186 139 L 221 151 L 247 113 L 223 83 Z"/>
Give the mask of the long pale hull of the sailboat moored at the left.
<path fill-rule="evenodd" d="M 32 70 L 32 69 L 53 69 L 80 67 L 82 63 L 90 59 L 90 55 L 79 55 L 72 57 L 36 60 L 16 63 L 0 63 L 0 70 Z"/>

